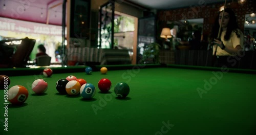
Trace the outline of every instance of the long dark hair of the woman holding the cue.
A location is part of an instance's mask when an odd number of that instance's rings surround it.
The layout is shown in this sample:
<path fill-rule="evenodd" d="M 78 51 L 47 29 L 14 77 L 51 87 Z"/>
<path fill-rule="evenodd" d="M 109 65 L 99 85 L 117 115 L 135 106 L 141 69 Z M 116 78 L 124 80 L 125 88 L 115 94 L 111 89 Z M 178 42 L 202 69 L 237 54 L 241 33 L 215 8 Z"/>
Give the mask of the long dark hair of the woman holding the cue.
<path fill-rule="evenodd" d="M 236 15 L 230 8 L 226 8 L 224 11 L 229 14 L 229 21 L 227 24 L 226 34 L 224 35 L 224 40 L 228 40 L 230 38 L 232 31 L 234 31 L 237 34 L 237 36 L 240 37 L 240 33 L 238 31 L 239 27 L 238 27 Z M 216 38 L 216 39 L 218 38 L 218 33 L 219 33 L 219 28 L 220 28 L 220 25 L 219 25 L 220 13 L 221 12 L 218 13 L 218 16 L 215 19 L 214 27 L 212 27 L 211 40 L 214 38 Z M 222 32 L 222 29 L 221 29 L 221 32 Z"/>

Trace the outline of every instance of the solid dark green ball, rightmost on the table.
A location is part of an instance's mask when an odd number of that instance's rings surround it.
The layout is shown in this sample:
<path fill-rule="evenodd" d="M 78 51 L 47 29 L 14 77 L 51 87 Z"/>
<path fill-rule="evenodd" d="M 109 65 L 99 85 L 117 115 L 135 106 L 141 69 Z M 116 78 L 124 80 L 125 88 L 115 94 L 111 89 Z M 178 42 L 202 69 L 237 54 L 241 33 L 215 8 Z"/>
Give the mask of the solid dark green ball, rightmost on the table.
<path fill-rule="evenodd" d="M 130 87 L 125 82 L 118 82 L 115 85 L 114 91 L 118 98 L 125 98 L 130 93 Z"/>

